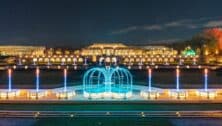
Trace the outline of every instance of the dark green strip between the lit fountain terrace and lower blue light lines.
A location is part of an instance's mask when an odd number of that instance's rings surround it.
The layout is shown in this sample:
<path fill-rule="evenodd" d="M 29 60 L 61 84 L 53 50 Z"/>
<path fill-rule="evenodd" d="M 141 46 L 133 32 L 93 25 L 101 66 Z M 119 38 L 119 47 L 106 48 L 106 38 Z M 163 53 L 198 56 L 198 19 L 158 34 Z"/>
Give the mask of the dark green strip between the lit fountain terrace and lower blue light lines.
<path fill-rule="evenodd" d="M 0 103 L 0 111 L 217 111 L 221 103 L 151 103 L 151 102 L 18 102 Z"/>

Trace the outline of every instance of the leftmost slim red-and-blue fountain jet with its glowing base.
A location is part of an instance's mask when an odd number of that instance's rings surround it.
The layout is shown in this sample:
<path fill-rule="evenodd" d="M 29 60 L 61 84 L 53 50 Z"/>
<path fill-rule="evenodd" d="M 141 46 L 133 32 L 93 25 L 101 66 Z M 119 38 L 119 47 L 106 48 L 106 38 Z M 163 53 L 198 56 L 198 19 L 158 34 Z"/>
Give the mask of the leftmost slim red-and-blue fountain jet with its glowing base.
<path fill-rule="evenodd" d="M 12 90 L 12 69 L 8 69 L 8 89 L 0 91 L 1 99 L 15 98 L 18 93 Z"/>

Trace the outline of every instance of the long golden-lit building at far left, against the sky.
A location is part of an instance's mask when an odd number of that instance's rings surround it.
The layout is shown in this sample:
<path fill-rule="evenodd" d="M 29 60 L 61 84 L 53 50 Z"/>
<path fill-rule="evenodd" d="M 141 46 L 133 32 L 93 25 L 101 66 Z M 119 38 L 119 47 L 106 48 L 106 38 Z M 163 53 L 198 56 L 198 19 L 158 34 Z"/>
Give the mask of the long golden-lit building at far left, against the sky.
<path fill-rule="evenodd" d="M 22 55 L 44 55 L 44 46 L 0 46 L 0 55 L 22 56 Z"/>

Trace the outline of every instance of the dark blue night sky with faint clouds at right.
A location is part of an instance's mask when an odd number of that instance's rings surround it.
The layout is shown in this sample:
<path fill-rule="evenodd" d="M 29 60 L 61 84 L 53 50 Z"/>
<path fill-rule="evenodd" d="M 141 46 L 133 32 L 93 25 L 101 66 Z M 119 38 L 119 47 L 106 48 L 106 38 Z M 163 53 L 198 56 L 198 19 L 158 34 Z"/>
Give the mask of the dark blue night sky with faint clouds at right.
<path fill-rule="evenodd" d="M 182 41 L 222 26 L 221 0 L 2 0 L 0 44 Z"/>

